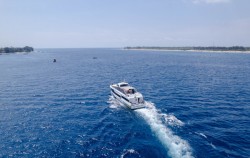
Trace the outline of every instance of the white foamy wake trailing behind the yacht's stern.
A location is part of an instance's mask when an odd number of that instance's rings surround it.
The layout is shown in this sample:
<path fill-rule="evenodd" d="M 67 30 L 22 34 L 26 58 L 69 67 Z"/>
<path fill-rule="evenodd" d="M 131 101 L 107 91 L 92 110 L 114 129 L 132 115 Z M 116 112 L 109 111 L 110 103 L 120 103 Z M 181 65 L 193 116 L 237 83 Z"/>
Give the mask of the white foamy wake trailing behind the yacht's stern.
<path fill-rule="evenodd" d="M 188 142 L 174 135 L 167 125 L 182 126 L 183 122 L 173 115 L 158 112 L 153 103 L 146 102 L 147 108 L 135 110 L 150 126 L 157 138 L 173 158 L 191 158 L 192 149 Z"/>

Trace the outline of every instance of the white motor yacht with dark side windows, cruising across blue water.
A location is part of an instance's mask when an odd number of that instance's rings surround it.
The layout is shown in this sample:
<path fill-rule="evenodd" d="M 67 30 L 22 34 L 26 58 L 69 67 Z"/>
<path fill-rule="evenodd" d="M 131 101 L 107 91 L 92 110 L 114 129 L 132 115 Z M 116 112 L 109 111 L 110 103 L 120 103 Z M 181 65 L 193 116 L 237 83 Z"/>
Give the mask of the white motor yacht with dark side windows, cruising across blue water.
<path fill-rule="evenodd" d="M 110 85 L 111 94 L 120 103 L 128 108 L 135 110 L 145 108 L 145 101 L 140 92 L 126 82 L 120 82 Z"/>

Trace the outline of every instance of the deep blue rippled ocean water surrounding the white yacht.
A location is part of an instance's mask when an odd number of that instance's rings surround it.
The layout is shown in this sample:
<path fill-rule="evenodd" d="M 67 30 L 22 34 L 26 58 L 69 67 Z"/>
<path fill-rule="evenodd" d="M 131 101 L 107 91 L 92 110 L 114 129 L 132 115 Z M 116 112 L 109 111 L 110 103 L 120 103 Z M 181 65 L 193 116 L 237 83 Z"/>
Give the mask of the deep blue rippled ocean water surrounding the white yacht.
<path fill-rule="evenodd" d="M 110 96 L 124 80 L 147 109 Z M 250 157 L 250 54 L 2 54 L 0 157 Z"/>

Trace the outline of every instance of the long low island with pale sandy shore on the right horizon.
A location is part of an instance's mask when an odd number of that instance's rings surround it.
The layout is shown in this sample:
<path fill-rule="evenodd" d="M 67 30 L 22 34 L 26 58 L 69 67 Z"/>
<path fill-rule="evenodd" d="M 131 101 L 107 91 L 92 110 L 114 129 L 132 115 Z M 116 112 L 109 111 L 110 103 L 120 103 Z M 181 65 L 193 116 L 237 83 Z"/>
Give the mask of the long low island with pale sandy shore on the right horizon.
<path fill-rule="evenodd" d="M 173 50 L 173 51 L 250 51 L 250 47 L 125 47 L 124 49 L 137 50 Z"/>

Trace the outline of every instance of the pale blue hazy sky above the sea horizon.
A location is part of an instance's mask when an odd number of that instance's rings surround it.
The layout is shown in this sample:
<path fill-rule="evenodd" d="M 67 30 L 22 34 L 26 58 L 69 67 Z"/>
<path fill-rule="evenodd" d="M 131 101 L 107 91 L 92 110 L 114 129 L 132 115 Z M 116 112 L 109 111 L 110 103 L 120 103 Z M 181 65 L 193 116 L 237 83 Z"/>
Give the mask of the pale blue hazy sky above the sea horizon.
<path fill-rule="evenodd" d="M 0 47 L 250 46 L 250 0 L 0 0 Z"/>

